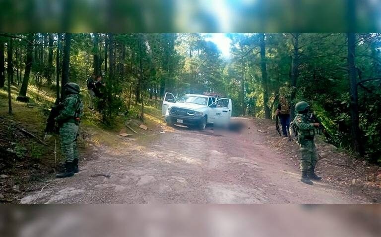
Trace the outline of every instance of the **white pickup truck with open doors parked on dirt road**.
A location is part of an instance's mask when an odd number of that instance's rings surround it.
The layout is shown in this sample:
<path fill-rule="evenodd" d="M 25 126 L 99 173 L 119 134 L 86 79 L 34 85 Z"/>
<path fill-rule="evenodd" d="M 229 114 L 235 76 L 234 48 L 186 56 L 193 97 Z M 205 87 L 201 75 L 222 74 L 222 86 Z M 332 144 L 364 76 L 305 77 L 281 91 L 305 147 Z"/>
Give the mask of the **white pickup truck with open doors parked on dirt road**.
<path fill-rule="evenodd" d="M 161 112 L 167 126 L 179 124 L 204 130 L 208 123 L 217 126 L 229 124 L 232 100 L 196 94 L 187 94 L 176 100 L 173 94 L 166 93 Z"/>

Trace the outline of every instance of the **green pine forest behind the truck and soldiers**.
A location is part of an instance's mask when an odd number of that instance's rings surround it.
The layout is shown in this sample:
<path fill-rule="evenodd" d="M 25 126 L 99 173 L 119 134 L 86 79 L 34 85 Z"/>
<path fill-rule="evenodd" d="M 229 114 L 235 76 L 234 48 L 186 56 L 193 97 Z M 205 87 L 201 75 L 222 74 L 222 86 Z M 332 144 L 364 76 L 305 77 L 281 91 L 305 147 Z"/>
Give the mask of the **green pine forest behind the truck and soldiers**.
<path fill-rule="evenodd" d="M 104 77 L 101 122 L 121 114 L 144 120 L 165 92 L 217 92 L 234 116 L 274 119 L 281 96 L 311 104 L 337 147 L 381 163 L 381 34 L 224 34 L 224 57 L 210 34 L 0 34 L 0 90 L 28 102 L 30 88 L 62 100 L 75 82 Z"/>

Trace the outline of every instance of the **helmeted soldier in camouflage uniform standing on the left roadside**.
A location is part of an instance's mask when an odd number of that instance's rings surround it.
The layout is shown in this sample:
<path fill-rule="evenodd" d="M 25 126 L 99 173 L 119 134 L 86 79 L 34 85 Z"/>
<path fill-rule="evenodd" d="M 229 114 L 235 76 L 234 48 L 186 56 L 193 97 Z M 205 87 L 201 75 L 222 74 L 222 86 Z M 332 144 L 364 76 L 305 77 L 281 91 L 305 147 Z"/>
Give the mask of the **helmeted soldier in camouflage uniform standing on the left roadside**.
<path fill-rule="evenodd" d="M 83 114 L 83 103 L 79 97 L 80 88 L 75 83 L 65 85 L 66 98 L 55 120 L 60 124 L 61 149 L 66 157 L 65 171 L 56 175 L 65 178 L 78 173 L 77 135 L 79 121 Z"/>

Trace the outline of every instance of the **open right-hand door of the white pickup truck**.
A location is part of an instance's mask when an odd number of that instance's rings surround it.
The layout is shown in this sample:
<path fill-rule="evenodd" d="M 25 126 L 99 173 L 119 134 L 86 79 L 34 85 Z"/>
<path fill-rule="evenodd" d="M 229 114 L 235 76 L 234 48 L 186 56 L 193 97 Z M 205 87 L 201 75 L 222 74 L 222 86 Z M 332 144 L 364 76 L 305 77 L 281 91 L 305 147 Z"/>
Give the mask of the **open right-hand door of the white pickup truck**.
<path fill-rule="evenodd" d="M 215 126 L 227 126 L 232 116 L 232 100 L 228 98 L 217 98 L 209 105 L 209 117 Z"/>

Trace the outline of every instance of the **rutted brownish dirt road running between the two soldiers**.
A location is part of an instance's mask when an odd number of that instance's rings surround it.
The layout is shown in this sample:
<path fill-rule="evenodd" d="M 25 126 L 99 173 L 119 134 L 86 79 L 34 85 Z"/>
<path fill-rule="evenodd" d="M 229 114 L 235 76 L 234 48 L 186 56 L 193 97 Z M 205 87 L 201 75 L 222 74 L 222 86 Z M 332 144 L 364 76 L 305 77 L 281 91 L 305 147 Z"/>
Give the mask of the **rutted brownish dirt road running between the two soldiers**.
<path fill-rule="evenodd" d="M 54 179 L 21 203 L 366 203 L 329 184 L 309 186 L 271 150 L 253 121 L 241 133 L 164 128 L 144 139 L 94 147 L 80 173 Z"/>

